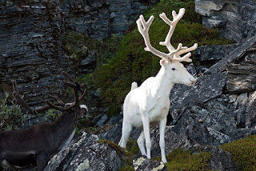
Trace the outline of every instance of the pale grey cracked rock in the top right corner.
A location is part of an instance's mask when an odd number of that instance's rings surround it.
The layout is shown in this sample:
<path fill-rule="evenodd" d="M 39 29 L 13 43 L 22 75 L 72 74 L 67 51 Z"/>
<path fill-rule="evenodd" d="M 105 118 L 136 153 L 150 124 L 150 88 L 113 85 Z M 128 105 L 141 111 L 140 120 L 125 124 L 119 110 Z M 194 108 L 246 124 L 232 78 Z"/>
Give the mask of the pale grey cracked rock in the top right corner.
<path fill-rule="evenodd" d="M 204 25 L 218 28 L 225 38 L 244 42 L 256 34 L 254 0 L 196 0 L 195 10 Z"/>

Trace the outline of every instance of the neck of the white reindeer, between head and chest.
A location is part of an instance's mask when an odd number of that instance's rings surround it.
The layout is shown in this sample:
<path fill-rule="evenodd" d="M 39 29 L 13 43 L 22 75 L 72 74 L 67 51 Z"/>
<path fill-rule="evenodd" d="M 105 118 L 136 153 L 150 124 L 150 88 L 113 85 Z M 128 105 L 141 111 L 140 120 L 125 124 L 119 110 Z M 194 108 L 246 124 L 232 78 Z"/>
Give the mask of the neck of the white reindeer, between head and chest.
<path fill-rule="evenodd" d="M 168 73 L 164 69 L 164 67 L 161 67 L 158 74 L 155 76 L 156 78 L 156 89 L 158 89 L 158 93 L 160 93 L 162 96 L 169 97 L 170 90 L 173 88 L 174 83 L 168 79 Z"/>

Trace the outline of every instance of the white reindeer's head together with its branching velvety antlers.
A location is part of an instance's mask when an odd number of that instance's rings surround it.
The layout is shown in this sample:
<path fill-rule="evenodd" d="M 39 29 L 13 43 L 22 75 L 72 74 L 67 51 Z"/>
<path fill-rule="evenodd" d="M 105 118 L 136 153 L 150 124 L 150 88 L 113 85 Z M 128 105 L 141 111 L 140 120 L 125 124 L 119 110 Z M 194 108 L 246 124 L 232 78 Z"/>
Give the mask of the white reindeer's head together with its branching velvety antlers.
<path fill-rule="evenodd" d="M 188 48 L 186 46 L 182 46 L 182 43 L 179 43 L 177 49 L 174 49 L 174 47 L 170 44 L 170 38 L 174 33 L 176 24 L 185 14 L 185 9 L 180 9 L 178 14 L 176 14 L 176 12 L 173 10 L 172 14 L 174 18 L 173 21 L 170 21 L 166 17 L 165 13 L 159 15 L 160 18 L 162 18 L 162 20 L 170 26 L 170 30 L 166 36 L 165 42 L 159 42 L 160 45 L 166 46 L 166 48 L 170 52 L 169 54 L 165 54 L 161 51 L 154 49 L 154 47 L 150 44 L 149 30 L 150 25 L 154 19 L 153 16 L 151 16 L 150 19 L 146 22 L 144 17 L 141 15 L 137 20 L 138 31 L 142 34 L 144 38 L 146 44 L 145 50 L 150 51 L 152 54 L 155 54 L 158 57 L 162 58 L 162 60 L 160 61 L 160 65 L 164 68 L 164 70 L 167 71 L 167 77 L 170 78 L 173 83 L 194 85 L 194 82 L 196 81 L 195 78 L 189 72 L 187 72 L 186 68 L 180 62 L 192 62 L 192 60 L 190 59 L 190 51 L 197 49 L 198 44 L 194 43 L 194 46 Z M 180 56 L 187 52 L 189 53 L 184 55 L 183 57 Z"/>

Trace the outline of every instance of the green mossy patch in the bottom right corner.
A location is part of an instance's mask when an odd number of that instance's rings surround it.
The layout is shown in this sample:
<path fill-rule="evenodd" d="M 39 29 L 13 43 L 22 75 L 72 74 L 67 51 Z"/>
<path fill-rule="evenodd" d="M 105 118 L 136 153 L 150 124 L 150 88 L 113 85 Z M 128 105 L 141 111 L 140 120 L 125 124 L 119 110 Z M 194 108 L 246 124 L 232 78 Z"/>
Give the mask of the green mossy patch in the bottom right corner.
<path fill-rule="evenodd" d="M 236 140 L 220 146 L 221 149 L 232 154 L 233 160 L 240 167 L 239 170 L 256 170 L 256 135 Z"/>

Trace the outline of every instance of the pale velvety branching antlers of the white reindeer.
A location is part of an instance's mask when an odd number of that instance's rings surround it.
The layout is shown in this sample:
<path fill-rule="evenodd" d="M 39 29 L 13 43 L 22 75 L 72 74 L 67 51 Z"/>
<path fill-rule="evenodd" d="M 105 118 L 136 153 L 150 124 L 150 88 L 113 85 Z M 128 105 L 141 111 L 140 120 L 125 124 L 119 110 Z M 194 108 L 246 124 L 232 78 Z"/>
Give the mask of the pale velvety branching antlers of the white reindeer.
<path fill-rule="evenodd" d="M 140 16 L 140 18 L 137 20 L 137 26 L 138 26 L 138 31 L 142 34 L 142 36 L 144 38 L 144 41 L 146 44 L 145 50 L 150 51 L 153 54 L 157 55 L 158 57 L 164 58 L 166 60 L 176 61 L 176 62 L 192 62 L 192 60 L 190 59 L 191 53 L 184 55 L 182 58 L 180 57 L 180 55 L 197 49 L 197 47 L 198 47 L 197 43 L 194 43 L 194 46 L 191 46 L 190 48 L 187 48 L 186 46 L 182 46 L 182 43 L 179 43 L 176 50 L 170 44 L 170 38 L 174 33 L 175 26 L 178 23 L 178 21 L 185 14 L 185 9 L 184 8 L 180 9 L 178 14 L 176 14 L 176 12 L 173 10 L 172 14 L 173 14 L 173 18 L 174 18 L 173 21 L 170 21 L 166 17 L 165 13 L 162 13 L 159 15 L 160 18 L 162 18 L 162 20 L 170 26 L 170 30 L 169 30 L 168 34 L 166 35 L 165 42 L 159 42 L 160 45 L 166 46 L 166 48 L 170 52 L 169 54 L 165 54 L 163 52 L 160 52 L 160 51 L 154 49 L 154 47 L 151 46 L 151 44 L 150 44 L 150 36 L 149 36 L 148 32 L 150 30 L 150 25 L 153 22 L 154 17 L 151 16 L 150 19 L 147 22 L 145 22 L 145 19 L 143 18 L 143 16 L 142 15 Z"/>

